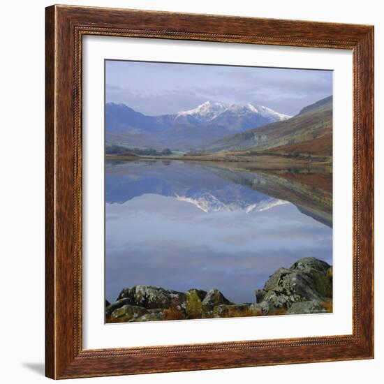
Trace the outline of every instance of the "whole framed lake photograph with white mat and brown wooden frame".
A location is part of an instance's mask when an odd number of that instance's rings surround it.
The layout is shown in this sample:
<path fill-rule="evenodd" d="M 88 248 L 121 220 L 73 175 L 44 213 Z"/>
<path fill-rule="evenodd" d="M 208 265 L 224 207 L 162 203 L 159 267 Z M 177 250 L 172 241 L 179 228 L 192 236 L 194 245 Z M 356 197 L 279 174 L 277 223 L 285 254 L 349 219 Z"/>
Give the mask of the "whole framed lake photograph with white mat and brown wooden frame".
<path fill-rule="evenodd" d="M 374 27 L 45 31 L 48 377 L 374 357 Z"/>

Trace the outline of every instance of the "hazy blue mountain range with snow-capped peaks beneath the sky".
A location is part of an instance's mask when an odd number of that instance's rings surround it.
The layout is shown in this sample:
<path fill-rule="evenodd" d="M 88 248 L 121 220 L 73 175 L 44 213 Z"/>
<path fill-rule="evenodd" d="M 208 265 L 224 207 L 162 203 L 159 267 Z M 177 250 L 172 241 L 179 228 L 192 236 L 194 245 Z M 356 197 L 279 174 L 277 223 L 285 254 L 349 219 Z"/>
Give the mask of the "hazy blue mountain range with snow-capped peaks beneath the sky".
<path fill-rule="evenodd" d="M 287 119 L 290 116 L 252 103 L 206 101 L 192 110 L 160 116 L 144 115 L 125 104 L 105 105 L 107 142 L 136 147 L 194 149 L 228 135 Z"/>

